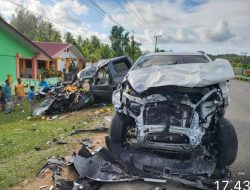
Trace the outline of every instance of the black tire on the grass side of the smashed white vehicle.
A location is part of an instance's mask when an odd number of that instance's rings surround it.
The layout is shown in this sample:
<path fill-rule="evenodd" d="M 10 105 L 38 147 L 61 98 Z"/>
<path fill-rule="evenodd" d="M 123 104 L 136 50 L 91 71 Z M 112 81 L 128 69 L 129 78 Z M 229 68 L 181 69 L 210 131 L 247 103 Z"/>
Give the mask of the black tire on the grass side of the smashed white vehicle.
<path fill-rule="evenodd" d="M 110 141 L 114 144 L 124 145 L 127 134 L 127 122 L 125 116 L 115 112 L 110 127 Z"/>

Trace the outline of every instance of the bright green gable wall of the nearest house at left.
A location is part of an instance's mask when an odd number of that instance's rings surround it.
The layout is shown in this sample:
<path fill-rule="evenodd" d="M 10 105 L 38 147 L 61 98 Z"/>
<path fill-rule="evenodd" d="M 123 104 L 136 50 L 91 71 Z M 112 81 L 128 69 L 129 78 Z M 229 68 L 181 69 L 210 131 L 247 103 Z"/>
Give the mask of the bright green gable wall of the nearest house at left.
<path fill-rule="evenodd" d="M 16 40 L 11 34 L 0 28 L 0 84 L 8 74 L 16 81 L 16 54 L 20 53 L 23 58 L 32 58 L 35 52 Z"/>

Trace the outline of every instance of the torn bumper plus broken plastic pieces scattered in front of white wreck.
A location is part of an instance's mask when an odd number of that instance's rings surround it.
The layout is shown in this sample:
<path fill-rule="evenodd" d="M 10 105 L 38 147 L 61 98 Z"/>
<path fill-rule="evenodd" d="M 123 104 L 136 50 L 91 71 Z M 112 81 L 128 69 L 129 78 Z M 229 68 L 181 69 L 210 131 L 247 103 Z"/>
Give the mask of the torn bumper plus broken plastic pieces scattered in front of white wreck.
<path fill-rule="evenodd" d="M 217 171 L 216 179 L 211 179 L 215 162 L 199 160 L 178 161 L 155 153 L 135 148 L 122 148 L 112 144 L 106 137 L 107 148 L 86 154 L 83 146 L 70 161 L 52 157 L 38 174 L 49 168 L 59 190 L 99 189 L 110 182 L 143 180 L 145 182 L 179 182 L 198 189 L 214 189 L 214 181 L 228 179 L 229 170 Z M 85 152 L 85 153 L 84 153 Z M 78 179 L 68 180 L 60 176 L 62 167 L 71 166 L 79 175 Z M 214 174 L 214 173 L 213 173 Z"/>

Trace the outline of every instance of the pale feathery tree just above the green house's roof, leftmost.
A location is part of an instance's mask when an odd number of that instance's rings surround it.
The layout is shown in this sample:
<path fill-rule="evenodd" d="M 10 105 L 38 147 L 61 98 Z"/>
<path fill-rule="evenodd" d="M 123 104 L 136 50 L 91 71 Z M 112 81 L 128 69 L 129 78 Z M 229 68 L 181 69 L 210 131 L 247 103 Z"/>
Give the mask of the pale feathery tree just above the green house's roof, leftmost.
<path fill-rule="evenodd" d="M 10 24 L 30 40 L 35 40 L 38 18 L 22 8 L 16 12 L 16 15 L 12 15 Z"/>

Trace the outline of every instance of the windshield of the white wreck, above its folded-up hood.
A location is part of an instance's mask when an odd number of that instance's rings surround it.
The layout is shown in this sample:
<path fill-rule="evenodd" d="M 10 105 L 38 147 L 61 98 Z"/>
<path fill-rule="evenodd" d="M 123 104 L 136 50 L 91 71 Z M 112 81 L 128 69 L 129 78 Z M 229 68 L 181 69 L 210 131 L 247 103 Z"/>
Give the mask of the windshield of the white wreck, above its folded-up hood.
<path fill-rule="evenodd" d="M 209 62 L 209 60 L 204 55 L 152 55 L 141 57 L 135 63 L 132 70 L 151 66 L 207 62 Z"/>

